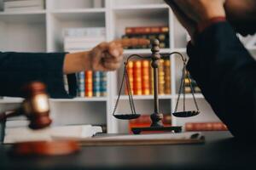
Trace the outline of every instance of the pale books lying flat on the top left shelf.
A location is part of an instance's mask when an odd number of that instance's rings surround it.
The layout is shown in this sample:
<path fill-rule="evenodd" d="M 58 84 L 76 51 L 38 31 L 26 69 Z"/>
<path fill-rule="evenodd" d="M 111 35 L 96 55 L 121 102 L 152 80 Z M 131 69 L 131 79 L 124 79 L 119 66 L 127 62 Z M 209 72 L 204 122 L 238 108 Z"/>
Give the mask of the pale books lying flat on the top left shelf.
<path fill-rule="evenodd" d="M 5 0 L 3 10 L 6 12 L 43 10 L 44 0 Z"/>

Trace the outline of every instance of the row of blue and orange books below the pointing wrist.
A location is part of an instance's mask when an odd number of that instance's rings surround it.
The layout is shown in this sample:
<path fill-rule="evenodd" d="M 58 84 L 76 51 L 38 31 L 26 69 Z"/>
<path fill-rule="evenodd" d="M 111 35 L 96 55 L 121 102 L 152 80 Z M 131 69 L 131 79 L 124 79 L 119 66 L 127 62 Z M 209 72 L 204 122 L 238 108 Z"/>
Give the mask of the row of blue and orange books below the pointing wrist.
<path fill-rule="evenodd" d="M 82 71 L 77 74 L 78 97 L 107 96 L 107 72 Z"/>

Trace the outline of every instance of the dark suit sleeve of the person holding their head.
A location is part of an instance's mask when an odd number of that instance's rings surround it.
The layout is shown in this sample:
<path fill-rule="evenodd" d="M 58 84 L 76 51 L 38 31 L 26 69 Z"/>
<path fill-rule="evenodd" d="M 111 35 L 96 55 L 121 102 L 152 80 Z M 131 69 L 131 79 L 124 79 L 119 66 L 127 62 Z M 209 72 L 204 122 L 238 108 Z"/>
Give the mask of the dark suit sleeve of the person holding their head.
<path fill-rule="evenodd" d="M 188 45 L 188 70 L 213 111 L 236 137 L 256 137 L 256 61 L 228 22 L 208 27 Z M 250 134 L 250 135 L 248 135 Z"/>

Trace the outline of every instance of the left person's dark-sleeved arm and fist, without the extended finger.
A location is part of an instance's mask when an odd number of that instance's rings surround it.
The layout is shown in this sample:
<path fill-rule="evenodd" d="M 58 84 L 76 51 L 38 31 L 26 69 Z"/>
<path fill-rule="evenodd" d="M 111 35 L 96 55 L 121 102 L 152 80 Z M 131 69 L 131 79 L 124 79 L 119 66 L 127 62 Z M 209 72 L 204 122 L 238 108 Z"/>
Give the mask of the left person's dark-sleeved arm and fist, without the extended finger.
<path fill-rule="evenodd" d="M 76 94 L 75 72 L 114 71 L 122 54 L 118 42 L 102 42 L 90 51 L 75 54 L 0 52 L 0 96 L 23 97 L 21 88 L 26 83 L 41 81 L 51 98 L 72 98 Z M 64 88 L 64 74 L 69 93 Z"/>

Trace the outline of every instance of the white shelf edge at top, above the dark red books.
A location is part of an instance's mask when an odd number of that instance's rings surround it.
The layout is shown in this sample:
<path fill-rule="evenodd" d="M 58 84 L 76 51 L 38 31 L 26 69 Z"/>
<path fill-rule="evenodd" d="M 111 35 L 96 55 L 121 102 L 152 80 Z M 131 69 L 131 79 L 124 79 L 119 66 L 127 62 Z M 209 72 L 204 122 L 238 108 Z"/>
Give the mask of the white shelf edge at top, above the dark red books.
<path fill-rule="evenodd" d="M 159 9 L 159 8 L 169 8 L 169 6 L 166 4 L 127 5 L 125 7 L 113 7 L 113 10 Z"/>

